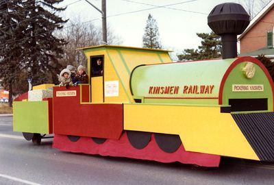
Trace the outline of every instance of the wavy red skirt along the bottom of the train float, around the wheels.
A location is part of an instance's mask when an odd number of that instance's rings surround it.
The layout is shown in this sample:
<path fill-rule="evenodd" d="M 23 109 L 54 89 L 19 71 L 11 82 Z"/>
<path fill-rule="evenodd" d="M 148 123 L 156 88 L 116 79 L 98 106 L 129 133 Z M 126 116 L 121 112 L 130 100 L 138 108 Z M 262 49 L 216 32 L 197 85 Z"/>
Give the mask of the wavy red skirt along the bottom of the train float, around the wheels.
<path fill-rule="evenodd" d="M 119 140 L 108 139 L 105 140 L 105 143 L 103 144 L 97 144 L 89 137 L 81 137 L 76 142 L 73 142 L 65 135 L 55 134 L 53 147 L 62 151 L 71 151 L 75 153 L 155 160 L 158 162 L 177 161 L 184 164 L 197 164 L 201 167 L 219 167 L 221 160 L 221 156 L 185 151 L 183 145 L 173 153 L 166 153 L 158 147 L 153 134 L 149 145 L 144 149 L 132 147 L 125 132 L 123 132 Z"/>

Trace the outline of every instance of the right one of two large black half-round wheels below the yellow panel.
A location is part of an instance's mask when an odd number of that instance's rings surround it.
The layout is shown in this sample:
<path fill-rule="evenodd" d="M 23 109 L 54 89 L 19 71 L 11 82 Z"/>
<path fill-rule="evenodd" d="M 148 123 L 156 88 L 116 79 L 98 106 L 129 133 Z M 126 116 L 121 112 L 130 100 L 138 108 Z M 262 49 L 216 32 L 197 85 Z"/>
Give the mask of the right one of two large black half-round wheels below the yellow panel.
<path fill-rule="evenodd" d="M 179 135 L 154 134 L 157 145 L 167 153 L 173 153 L 179 149 L 182 140 Z"/>

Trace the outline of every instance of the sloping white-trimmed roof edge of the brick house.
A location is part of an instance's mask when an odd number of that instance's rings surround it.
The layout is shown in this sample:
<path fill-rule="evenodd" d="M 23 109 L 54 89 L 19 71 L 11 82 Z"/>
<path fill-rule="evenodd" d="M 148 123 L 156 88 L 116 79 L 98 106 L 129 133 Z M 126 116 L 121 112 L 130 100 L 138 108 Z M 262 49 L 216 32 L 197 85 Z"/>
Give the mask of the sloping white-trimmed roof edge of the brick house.
<path fill-rule="evenodd" d="M 245 32 L 243 32 L 242 34 L 240 34 L 240 36 L 238 36 L 238 40 L 240 40 L 243 36 L 245 36 L 245 34 L 247 34 L 247 32 L 249 32 L 249 30 L 256 25 L 261 18 L 264 17 L 265 14 L 267 14 L 272 8 L 274 7 L 274 0 L 270 1 L 266 6 L 264 6 L 264 8 L 250 21 L 247 29 L 245 29 Z"/>

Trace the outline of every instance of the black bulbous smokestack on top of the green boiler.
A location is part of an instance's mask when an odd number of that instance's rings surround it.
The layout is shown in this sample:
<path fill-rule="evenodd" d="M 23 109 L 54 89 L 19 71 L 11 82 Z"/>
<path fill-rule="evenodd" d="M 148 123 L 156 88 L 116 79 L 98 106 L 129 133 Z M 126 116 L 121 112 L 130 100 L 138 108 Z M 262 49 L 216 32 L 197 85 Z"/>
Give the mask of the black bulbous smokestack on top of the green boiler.
<path fill-rule="evenodd" d="M 237 56 L 237 35 L 245 31 L 249 18 L 245 8 L 237 3 L 216 5 L 208 15 L 209 27 L 221 36 L 223 59 Z"/>

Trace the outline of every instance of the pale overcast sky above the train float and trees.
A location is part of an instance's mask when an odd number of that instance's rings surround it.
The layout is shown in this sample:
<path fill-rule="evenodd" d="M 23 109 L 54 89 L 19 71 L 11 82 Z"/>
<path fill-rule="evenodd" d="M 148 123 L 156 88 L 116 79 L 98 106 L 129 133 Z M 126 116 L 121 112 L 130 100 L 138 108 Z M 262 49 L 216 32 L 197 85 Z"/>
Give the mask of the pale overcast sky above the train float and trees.
<path fill-rule="evenodd" d="M 101 0 L 88 0 L 101 9 Z M 208 14 L 214 6 L 227 0 L 106 0 L 107 23 L 122 45 L 142 47 L 142 35 L 151 14 L 158 23 L 164 49 L 182 51 L 197 48 L 201 40 L 196 33 L 211 32 Z M 231 0 L 230 2 L 238 2 Z M 71 5 L 70 5 L 71 4 Z M 171 5 L 173 4 L 173 5 Z M 81 15 L 83 21 L 101 25 L 101 14 L 84 0 L 65 0 L 66 18 Z M 159 6 L 164 6 L 159 8 Z M 116 16 L 115 16 L 116 15 Z"/>

